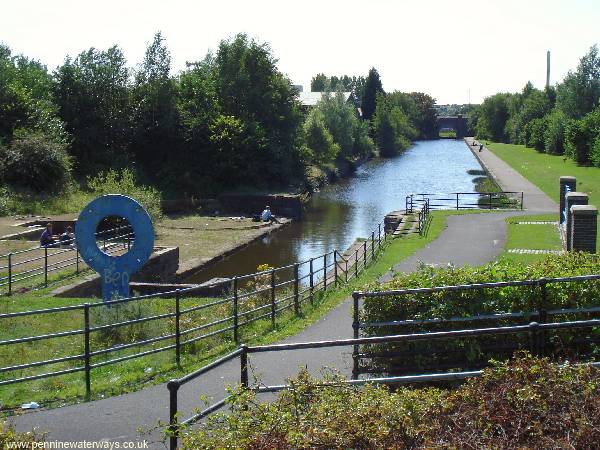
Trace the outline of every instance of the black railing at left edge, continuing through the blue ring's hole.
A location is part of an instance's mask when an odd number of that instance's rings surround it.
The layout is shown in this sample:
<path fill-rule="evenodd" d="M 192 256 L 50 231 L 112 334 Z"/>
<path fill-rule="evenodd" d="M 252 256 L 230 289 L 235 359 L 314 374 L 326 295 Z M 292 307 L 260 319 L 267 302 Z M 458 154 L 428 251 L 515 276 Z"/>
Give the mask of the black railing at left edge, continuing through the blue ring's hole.
<path fill-rule="evenodd" d="M 135 236 L 131 226 L 126 225 L 100 231 L 96 237 L 105 253 L 114 254 L 129 250 Z M 38 284 L 48 287 L 50 273 L 68 267 L 74 267 L 74 273 L 79 273 L 84 265 L 74 239 L 0 255 L 0 288 L 4 287 L 5 294 L 11 295 L 15 285 L 25 281 L 31 284 L 35 278 L 39 279 Z"/>

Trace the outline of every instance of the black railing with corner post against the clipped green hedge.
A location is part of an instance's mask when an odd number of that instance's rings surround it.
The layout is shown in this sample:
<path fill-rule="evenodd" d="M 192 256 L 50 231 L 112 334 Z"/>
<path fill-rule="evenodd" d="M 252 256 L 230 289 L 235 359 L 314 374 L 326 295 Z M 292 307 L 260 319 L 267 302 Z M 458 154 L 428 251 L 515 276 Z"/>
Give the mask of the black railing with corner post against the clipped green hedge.
<path fill-rule="evenodd" d="M 431 288 L 413 288 L 413 289 L 399 289 L 399 290 L 391 290 L 391 291 L 374 291 L 374 292 L 355 292 L 353 293 L 353 322 L 352 328 L 354 332 L 354 338 L 358 339 L 360 337 L 360 330 L 369 330 L 371 333 L 376 333 L 377 329 L 392 329 L 394 332 L 403 332 L 404 330 L 414 330 L 415 328 L 423 329 L 425 327 L 437 327 L 439 329 L 442 327 L 446 329 L 447 327 L 457 326 L 462 324 L 462 326 L 477 326 L 478 323 L 496 323 L 498 324 L 501 321 L 527 321 L 535 318 L 540 323 L 546 323 L 551 320 L 552 317 L 565 316 L 565 315 L 581 315 L 581 314 L 599 314 L 600 306 L 594 305 L 585 308 L 551 308 L 549 294 L 547 291 L 547 286 L 553 283 L 584 283 L 584 282 L 592 282 L 600 280 L 600 275 L 580 275 L 573 277 L 557 277 L 557 278 L 538 278 L 533 280 L 523 280 L 523 281 L 503 281 L 503 282 L 494 282 L 494 283 L 477 283 L 477 284 L 466 284 L 466 285 L 456 285 L 456 286 L 438 286 Z M 390 297 L 398 297 L 401 298 L 406 296 L 414 296 L 414 295 L 428 295 L 434 293 L 443 293 L 448 291 L 461 292 L 461 291 L 481 291 L 483 289 L 501 289 L 507 287 L 528 287 L 528 288 L 537 288 L 539 289 L 539 296 L 535 300 L 532 301 L 532 307 L 528 311 L 504 311 L 504 312 L 496 312 L 496 313 L 479 313 L 472 314 L 468 316 L 454 316 L 448 318 L 440 318 L 440 317 L 419 317 L 419 318 L 407 318 L 403 320 L 387 320 L 387 321 L 361 321 L 361 300 L 363 299 L 372 299 L 372 301 L 377 301 L 377 299 L 386 299 L 389 300 Z M 531 291 L 530 291 L 531 292 Z M 401 310 L 402 300 L 398 302 L 398 307 Z M 589 342 L 588 342 L 589 341 Z M 592 340 L 586 341 L 587 343 L 595 343 Z M 580 343 L 583 343 L 580 342 Z M 489 351 L 493 351 L 495 348 L 490 347 Z M 464 350 L 464 349 L 463 349 Z M 483 347 L 479 348 L 480 351 L 483 351 Z M 503 343 L 502 350 L 504 352 L 515 350 L 515 348 L 508 345 L 508 343 Z M 445 350 L 445 353 L 448 354 L 450 352 L 449 349 Z M 417 352 L 418 353 L 418 352 Z M 364 368 L 360 366 L 360 360 L 362 359 L 370 359 L 374 356 L 381 358 L 389 358 L 390 356 L 402 358 L 411 358 L 415 356 L 414 351 L 405 351 L 405 352 L 378 352 L 378 353 L 367 353 L 367 352 L 359 352 L 359 349 L 355 349 L 355 357 L 353 360 L 353 377 L 358 377 L 361 373 L 369 372 L 365 371 Z M 413 370 L 413 367 L 406 366 L 406 370 Z"/>

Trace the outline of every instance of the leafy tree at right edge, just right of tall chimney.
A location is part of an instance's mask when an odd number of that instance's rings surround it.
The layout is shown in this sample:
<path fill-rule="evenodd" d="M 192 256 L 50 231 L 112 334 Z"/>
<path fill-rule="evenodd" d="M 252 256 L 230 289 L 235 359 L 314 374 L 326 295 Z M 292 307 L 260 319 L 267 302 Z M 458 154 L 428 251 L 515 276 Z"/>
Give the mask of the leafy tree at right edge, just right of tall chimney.
<path fill-rule="evenodd" d="M 580 119 L 600 99 L 600 55 L 593 45 L 583 56 L 577 70 L 569 72 L 556 88 L 556 106 L 569 118 Z"/>

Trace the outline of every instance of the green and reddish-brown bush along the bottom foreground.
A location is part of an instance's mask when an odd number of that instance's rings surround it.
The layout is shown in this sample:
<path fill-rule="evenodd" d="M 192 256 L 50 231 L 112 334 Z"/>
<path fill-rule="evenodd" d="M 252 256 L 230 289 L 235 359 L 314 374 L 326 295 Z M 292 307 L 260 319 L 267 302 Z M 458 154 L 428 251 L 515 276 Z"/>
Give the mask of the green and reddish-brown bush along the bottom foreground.
<path fill-rule="evenodd" d="M 327 381 L 339 381 L 327 377 Z M 596 448 L 600 371 L 522 355 L 455 391 L 324 386 L 301 372 L 262 402 L 238 389 L 230 411 L 182 436 L 183 449 Z"/>

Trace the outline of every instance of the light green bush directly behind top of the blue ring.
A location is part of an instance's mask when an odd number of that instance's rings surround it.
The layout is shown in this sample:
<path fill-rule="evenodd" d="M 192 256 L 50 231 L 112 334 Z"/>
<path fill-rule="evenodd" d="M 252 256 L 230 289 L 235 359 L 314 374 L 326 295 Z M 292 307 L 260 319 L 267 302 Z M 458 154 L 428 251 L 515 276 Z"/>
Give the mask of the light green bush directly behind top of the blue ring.
<path fill-rule="evenodd" d="M 154 224 L 162 217 L 160 192 L 153 187 L 137 184 L 135 175 L 129 169 L 120 172 L 111 169 L 94 178 L 88 177 L 87 185 L 94 196 L 123 194 L 133 198 L 148 211 Z"/>

